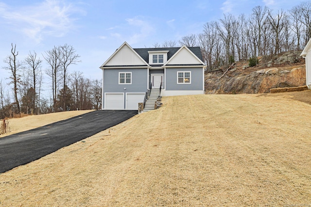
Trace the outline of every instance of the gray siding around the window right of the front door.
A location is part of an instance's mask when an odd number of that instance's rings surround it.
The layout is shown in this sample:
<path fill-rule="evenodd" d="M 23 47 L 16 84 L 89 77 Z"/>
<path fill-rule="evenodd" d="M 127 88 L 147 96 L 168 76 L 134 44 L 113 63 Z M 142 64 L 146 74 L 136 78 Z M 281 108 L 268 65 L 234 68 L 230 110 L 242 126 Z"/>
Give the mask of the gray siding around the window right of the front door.
<path fill-rule="evenodd" d="M 191 71 L 191 84 L 177 84 L 177 71 Z M 166 68 L 166 89 L 172 91 L 203 90 L 203 69 L 195 68 Z"/>

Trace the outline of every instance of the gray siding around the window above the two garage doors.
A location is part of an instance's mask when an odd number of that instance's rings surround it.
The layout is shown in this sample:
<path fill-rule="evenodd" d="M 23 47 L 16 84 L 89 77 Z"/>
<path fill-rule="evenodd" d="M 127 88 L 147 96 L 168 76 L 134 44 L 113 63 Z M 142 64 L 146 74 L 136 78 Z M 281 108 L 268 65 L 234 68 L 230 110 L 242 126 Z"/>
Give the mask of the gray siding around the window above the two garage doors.
<path fill-rule="evenodd" d="M 119 84 L 119 72 L 132 72 L 132 84 Z M 124 93 L 125 109 L 125 93 L 145 93 L 147 91 L 147 73 L 147 68 L 104 69 L 103 93 Z M 124 88 L 126 89 L 124 90 Z"/>

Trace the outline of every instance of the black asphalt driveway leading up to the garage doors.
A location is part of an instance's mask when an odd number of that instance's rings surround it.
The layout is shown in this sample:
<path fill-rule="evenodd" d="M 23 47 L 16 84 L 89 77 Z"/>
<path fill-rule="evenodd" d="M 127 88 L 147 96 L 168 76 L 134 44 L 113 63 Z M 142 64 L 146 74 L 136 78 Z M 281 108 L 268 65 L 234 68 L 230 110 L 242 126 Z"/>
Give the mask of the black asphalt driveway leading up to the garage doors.
<path fill-rule="evenodd" d="M 0 138 L 0 173 L 40 159 L 137 114 L 137 110 L 103 110 Z"/>

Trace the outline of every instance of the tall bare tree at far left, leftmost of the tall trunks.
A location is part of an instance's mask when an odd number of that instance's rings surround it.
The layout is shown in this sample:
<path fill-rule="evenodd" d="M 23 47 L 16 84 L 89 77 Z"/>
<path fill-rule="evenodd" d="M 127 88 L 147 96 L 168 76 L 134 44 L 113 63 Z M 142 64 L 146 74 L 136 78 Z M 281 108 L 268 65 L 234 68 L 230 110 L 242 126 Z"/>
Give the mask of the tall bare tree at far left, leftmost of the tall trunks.
<path fill-rule="evenodd" d="M 18 83 L 20 82 L 20 70 L 22 68 L 22 63 L 17 60 L 18 51 L 16 51 L 16 45 L 13 47 L 12 43 L 12 49 L 11 49 L 11 55 L 8 55 L 4 59 L 4 63 L 7 64 L 7 66 L 4 66 L 3 68 L 10 71 L 10 78 L 11 84 L 14 85 L 14 98 L 15 103 L 17 104 L 17 113 L 20 113 L 20 107 L 17 97 L 17 91 L 18 91 Z"/>

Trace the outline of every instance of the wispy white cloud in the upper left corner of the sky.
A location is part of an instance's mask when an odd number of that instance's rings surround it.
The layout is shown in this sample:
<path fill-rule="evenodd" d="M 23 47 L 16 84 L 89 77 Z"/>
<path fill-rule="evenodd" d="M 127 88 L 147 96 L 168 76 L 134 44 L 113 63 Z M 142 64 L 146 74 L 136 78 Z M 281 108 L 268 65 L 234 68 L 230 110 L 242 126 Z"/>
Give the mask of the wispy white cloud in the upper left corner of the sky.
<path fill-rule="evenodd" d="M 14 7 L 1 3 L 0 19 L 12 26 L 12 30 L 41 42 L 44 36 L 61 37 L 75 28 L 72 16 L 85 12 L 73 4 L 60 0 L 45 0 L 39 4 Z"/>

